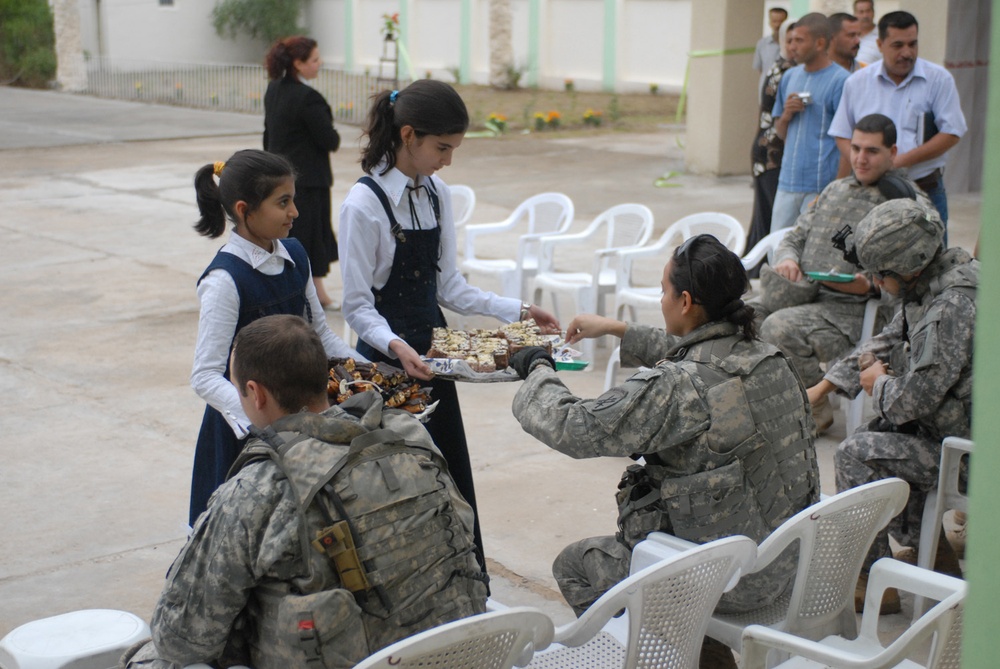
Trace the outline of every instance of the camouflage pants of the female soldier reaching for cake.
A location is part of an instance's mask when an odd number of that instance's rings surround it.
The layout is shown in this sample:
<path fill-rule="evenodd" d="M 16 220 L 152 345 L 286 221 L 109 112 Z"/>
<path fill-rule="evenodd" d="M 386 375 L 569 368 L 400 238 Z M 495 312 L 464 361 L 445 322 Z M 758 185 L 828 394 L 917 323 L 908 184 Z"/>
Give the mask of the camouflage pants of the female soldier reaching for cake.
<path fill-rule="evenodd" d="M 798 548 L 793 544 L 766 569 L 741 578 L 735 588 L 722 595 L 716 610 L 741 613 L 767 606 L 791 586 L 797 563 Z M 615 537 L 591 537 L 564 548 L 552 563 L 552 575 L 579 617 L 627 578 L 631 565 L 632 552 Z"/>

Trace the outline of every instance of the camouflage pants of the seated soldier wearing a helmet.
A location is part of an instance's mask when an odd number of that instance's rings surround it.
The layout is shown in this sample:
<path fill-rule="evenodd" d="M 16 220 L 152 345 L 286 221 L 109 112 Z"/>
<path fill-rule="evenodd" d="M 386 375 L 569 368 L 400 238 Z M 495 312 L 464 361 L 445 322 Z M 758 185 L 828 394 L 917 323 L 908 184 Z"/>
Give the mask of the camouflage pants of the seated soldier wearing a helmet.
<path fill-rule="evenodd" d="M 924 500 L 927 491 L 937 485 L 941 463 L 939 441 L 869 430 L 870 426 L 858 430 L 837 447 L 833 461 L 838 492 L 895 476 L 910 484 L 910 497 L 903 511 L 875 537 L 865 558 L 865 571 L 879 558 L 890 555 L 890 533 L 901 545 L 917 548 Z"/>

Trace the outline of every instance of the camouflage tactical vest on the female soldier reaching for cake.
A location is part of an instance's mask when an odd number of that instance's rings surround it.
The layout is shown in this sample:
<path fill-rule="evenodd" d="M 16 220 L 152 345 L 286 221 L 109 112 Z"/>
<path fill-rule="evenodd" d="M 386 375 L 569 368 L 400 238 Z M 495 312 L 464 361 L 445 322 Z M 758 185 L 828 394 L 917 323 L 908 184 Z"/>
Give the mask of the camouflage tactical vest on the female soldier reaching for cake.
<path fill-rule="evenodd" d="M 660 363 L 684 369 L 708 405 L 708 430 L 684 447 L 701 449 L 706 471 L 671 475 L 669 452 L 630 467 L 618 493 L 619 539 L 629 548 L 653 530 L 698 543 L 735 534 L 760 542 L 818 499 L 805 391 L 788 383 L 796 377 L 780 351 L 736 353 L 740 341 L 699 342 L 679 361 Z"/>

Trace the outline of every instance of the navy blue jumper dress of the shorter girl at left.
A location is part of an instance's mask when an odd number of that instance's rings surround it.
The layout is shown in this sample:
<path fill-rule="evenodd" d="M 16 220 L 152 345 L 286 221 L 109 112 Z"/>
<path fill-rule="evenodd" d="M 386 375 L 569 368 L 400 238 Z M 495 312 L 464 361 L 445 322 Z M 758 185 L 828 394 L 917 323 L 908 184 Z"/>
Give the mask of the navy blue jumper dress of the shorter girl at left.
<path fill-rule="evenodd" d="M 232 253 L 219 251 L 208 269 L 198 279 L 198 283 L 201 283 L 209 272 L 216 269 L 225 270 L 233 277 L 236 291 L 240 296 L 240 315 L 236 321 L 236 331 L 233 332 L 234 339 L 236 333 L 244 326 L 258 318 L 273 314 L 302 316 L 312 322 L 312 310 L 306 299 L 306 285 L 312 281 L 312 277 L 309 276 L 309 257 L 297 239 L 282 239 L 279 243 L 284 244 L 288 254 L 295 261 L 293 265 L 286 260 L 285 269 L 281 274 L 274 276 L 262 274 Z M 232 350 L 232 342 L 229 346 Z M 228 360 L 225 376 L 229 378 Z M 205 407 L 191 475 L 191 508 L 188 522 L 192 527 L 194 521 L 208 507 L 208 498 L 225 482 L 229 468 L 243 450 L 245 442 L 245 439 L 236 438 L 233 428 L 229 427 L 221 413 L 212 406 Z"/>

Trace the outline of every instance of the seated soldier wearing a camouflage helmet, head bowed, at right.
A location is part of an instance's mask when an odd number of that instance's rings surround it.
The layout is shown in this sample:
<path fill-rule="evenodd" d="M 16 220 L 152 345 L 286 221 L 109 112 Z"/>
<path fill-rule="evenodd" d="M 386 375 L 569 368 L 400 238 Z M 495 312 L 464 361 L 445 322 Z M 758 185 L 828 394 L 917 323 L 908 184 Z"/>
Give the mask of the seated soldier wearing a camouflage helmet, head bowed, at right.
<path fill-rule="evenodd" d="M 910 484 L 906 508 L 879 534 L 865 574 L 889 555 L 888 533 L 916 550 L 926 492 L 937 484 L 941 440 L 971 433 L 979 262 L 962 249 L 944 250 L 943 237 L 936 210 L 913 200 L 881 204 L 858 224 L 859 264 L 903 306 L 881 334 L 809 389 L 811 399 L 834 390 L 848 397 L 864 390 L 872 397 L 875 419 L 837 449 L 838 490 L 891 476 Z M 948 542 L 941 544 L 947 551 Z M 939 554 L 938 565 L 961 576 L 957 560 L 947 555 Z"/>

